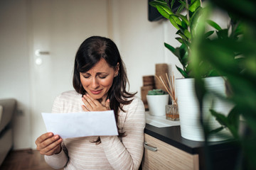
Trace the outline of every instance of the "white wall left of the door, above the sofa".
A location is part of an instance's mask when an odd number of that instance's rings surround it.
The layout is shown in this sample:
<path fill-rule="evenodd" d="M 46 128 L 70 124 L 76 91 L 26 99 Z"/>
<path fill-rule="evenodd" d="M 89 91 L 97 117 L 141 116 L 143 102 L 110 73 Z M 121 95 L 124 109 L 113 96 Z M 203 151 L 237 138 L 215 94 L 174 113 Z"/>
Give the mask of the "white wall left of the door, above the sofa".
<path fill-rule="evenodd" d="M 14 148 L 31 147 L 30 72 L 26 0 L 0 1 L 0 98 L 16 98 Z"/>

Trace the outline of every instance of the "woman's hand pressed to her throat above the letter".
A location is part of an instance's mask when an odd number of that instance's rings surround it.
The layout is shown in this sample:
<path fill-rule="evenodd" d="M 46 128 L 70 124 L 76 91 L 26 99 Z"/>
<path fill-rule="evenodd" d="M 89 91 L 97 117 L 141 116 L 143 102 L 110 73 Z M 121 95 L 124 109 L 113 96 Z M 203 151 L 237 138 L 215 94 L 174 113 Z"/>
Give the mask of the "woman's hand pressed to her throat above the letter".
<path fill-rule="evenodd" d="M 108 98 L 107 101 L 99 101 L 95 100 L 89 94 L 85 94 L 82 96 L 82 102 L 85 105 L 82 105 L 83 111 L 110 111 L 110 99 Z"/>

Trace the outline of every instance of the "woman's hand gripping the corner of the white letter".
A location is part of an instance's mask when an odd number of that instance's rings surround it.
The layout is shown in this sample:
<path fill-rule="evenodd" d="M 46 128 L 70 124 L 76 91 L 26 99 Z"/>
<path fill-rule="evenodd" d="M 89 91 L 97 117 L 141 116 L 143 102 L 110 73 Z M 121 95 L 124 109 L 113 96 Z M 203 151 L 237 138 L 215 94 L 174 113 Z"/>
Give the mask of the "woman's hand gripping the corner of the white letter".
<path fill-rule="evenodd" d="M 61 152 L 61 142 L 63 141 L 59 135 L 53 135 L 47 132 L 36 139 L 36 149 L 40 154 L 53 155 Z"/>

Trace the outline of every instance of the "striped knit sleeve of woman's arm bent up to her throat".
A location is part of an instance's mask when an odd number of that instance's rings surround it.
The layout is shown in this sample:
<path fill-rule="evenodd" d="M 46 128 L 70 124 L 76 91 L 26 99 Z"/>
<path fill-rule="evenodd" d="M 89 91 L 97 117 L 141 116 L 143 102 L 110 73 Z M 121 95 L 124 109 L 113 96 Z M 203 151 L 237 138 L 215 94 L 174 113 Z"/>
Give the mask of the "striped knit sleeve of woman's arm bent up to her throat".
<path fill-rule="evenodd" d="M 113 169 L 139 169 L 143 156 L 145 109 L 139 98 L 124 107 L 122 142 L 117 136 L 100 137 L 102 148 Z"/>

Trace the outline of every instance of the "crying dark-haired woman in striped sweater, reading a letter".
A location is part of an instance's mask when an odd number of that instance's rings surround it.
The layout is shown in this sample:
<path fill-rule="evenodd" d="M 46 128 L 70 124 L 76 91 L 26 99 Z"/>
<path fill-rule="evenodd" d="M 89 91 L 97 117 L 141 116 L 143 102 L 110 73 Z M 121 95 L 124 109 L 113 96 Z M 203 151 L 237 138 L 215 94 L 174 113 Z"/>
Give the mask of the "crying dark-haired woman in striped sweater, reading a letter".
<path fill-rule="evenodd" d="M 114 110 L 119 136 L 62 139 L 47 132 L 37 149 L 55 169 L 139 169 L 143 155 L 144 105 L 126 91 L 127 74 L 117 46 L 93 36 L 75 56 L 73 86 L 53 103 L 53 113 Z"/>

